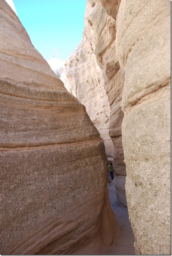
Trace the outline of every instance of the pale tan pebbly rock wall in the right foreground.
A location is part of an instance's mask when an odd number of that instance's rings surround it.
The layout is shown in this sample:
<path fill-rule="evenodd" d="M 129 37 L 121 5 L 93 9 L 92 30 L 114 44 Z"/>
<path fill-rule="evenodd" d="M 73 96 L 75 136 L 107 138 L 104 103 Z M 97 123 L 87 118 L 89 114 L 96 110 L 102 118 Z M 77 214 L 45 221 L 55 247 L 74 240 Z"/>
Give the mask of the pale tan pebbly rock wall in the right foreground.
<path fill-rule="evenodd" d="M 170 254 L 170 1 L 122 0 L 116 50 L 136 254 Z"/>

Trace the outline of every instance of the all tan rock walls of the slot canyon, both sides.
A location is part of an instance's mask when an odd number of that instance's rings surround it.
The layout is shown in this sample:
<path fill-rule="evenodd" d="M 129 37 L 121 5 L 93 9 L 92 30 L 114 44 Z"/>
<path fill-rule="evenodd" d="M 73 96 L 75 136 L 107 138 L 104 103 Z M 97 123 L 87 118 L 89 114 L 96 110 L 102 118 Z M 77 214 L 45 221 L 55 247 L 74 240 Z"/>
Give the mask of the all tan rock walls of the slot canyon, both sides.
<path fill-rule="evenodd" d="M 0 0 L 1 255 L 118 255 L 109 196 L 136 255 L 171 254 L 170 8 L 87 0 L 59 79 Z"/>

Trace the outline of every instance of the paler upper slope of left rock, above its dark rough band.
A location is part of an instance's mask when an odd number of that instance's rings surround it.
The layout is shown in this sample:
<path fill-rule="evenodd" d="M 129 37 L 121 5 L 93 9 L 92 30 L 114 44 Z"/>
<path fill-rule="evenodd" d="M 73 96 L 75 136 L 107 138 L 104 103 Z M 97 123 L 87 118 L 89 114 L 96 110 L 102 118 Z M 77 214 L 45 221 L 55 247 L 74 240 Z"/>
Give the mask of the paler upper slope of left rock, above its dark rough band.
<path fill-rule="evenodd" d="M 64 88 L 63 83 L 56 80 L 56 75 L 49 71 L 47 62 L 31 44 L 24 27 L 19 26 L 19 19 L 14 15 L 14 17 L 11 17 L 11 13 L 8 13 L 8 15 L 5 13 L 5 6 L 6 2 L 1 1 L 3 37 L 0 45 L 0 58 L 3 65 L 0 77 L 12 81 L 15 78 L 15 82 L 31 87 L 56 89 L 58 86 Z M 10 22 L 9 18 L 11 19 Z M 25 72 L 25 79 L 23 78 L 23 72 Z"/>

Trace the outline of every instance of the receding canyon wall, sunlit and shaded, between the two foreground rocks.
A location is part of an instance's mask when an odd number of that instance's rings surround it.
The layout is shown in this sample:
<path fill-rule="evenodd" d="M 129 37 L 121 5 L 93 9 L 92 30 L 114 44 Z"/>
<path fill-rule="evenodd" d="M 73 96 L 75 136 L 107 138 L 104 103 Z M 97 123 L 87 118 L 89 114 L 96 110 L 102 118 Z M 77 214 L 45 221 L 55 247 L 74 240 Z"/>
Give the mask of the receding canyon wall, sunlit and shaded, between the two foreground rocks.
<path fill-rule="evenodd" d="M 67 90 L 86 106 L 102 135 L 108 160 L 113 159 L 118 202 L 127 206 L 120 106 L 125 74 L 120 68 L 115 44 L 118 8 L 119 3 L 87 1 L 83 40 L 66 61 L 61 78 Z M 107 140 L 108 133 L 111 143 Z"/>

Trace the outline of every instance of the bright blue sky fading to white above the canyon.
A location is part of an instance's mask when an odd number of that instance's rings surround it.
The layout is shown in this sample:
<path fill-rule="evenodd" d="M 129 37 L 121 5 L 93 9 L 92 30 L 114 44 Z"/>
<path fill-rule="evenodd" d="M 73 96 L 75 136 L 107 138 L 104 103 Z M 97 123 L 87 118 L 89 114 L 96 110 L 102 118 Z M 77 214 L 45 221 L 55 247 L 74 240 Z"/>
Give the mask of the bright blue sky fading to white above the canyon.
<path fill-rule="evenodd" d="M 86 0 L 13 0 L 17 15 L 34 47 L 46 61 L 65 61 L 84 30 Z"/>

